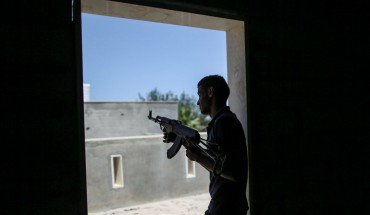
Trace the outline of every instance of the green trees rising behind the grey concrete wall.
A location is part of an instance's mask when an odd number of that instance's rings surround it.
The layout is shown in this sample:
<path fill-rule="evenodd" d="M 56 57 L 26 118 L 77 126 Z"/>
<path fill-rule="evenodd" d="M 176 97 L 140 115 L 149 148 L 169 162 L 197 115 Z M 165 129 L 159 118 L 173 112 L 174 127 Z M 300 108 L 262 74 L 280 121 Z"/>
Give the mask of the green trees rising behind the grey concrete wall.
<path fill-rule="evenodd" d="M 184 92 L 178 97 L 173 92 L 161 93 L 157 88 L 154 88 L 146 97 L 139 93 L 141 101 L 177 101 L 179 103 L 179 120 L 182 124 L 194 128 L 198 131 L 205 131 L 209 118 L 201 114 L 197 99 L 194 96 L 189 96 Z"/>

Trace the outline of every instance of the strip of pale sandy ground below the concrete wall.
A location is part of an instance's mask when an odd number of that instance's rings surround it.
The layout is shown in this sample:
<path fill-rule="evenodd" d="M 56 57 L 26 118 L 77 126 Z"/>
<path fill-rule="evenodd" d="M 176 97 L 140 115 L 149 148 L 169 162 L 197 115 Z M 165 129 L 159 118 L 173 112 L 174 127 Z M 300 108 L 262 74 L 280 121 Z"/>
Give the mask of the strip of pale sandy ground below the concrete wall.
<path fill-rule="evenodd" d="M 205 193 L 89 215 L 204 215 L 209 201 L 209 194 Z"/>

